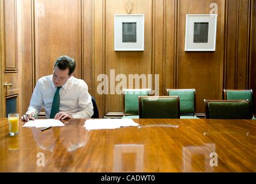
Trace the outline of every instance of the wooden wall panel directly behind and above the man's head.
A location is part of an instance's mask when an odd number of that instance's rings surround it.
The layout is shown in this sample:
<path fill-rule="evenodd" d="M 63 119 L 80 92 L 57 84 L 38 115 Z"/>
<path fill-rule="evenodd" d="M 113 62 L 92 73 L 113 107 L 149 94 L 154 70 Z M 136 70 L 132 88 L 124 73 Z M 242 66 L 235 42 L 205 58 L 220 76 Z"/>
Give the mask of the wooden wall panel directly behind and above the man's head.
<path fill-rule="evenodd" d="M 81 78 L 80 0 L 35 1 L 35 36 L 36 79 L 52 74 L 61 55 L 77 61 L 74 76 Z"/>

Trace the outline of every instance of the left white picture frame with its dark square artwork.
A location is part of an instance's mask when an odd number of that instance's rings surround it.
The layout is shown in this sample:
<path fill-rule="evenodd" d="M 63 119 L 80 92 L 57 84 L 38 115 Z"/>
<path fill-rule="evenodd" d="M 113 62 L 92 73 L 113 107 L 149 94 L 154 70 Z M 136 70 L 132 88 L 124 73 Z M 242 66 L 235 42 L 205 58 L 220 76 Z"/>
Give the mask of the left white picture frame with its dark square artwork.
<path fill-rule="evenodd" d="M 144 51 L 144 14 L 114 15 L 115 51 Z"/>

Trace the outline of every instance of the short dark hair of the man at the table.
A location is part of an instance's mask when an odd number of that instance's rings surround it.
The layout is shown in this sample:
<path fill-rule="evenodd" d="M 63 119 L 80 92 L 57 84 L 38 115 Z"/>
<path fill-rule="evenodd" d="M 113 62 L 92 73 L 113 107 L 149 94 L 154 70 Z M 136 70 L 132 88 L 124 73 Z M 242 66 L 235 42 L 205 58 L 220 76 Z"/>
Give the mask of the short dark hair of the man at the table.
<path fill-rule="evenodd" d="M 73 74 L 74 69 L 76 68 L 76 61 L 69 56 L 60 56 L 55 61 L 54 67 L 58 67 L 61 70 L 66 70 L 69 68 L 69 75 Z"/>

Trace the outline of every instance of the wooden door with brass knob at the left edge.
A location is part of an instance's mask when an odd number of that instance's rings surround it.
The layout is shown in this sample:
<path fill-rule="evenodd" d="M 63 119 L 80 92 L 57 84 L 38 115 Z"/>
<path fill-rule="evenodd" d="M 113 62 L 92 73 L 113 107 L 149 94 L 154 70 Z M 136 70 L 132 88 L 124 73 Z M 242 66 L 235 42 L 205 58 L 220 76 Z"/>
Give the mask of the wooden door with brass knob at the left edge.
<path fill-rule="evenodd" d="M 19 112 L 17 0 L 0 0 L 1 12 L 1 117 Z M 21 112 L 19 112 L 21 113 Z"/>

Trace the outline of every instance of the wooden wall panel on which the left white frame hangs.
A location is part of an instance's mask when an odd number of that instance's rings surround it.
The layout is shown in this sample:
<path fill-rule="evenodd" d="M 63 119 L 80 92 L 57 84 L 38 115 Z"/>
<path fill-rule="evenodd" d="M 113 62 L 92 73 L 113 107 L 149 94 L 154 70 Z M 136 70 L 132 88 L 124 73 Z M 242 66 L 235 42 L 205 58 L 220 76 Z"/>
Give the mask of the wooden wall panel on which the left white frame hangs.
<path fill-rule="evenodd" d="M 151 74 L 152 70 L 152 1 L 131 1 L 131 14 L 145 15 L 145 50 L 143 52 L 114 51 L 114 14 L 127 14 L 126 1 L 106 1 L 106 74 L 110 78 L 110 70 L 115 70 L 115 76 L 125 74 L 129 87 L 129 74 Z M 114 6 L 113 6 L 114 5 Z M 114 72 L 113 72 L 114 73 Z M 115 78 L 114 76 L 114 78 Z M 115 79 L 114 79 L 115 80 Z M 109 82 L 109 95 L 106 95 L 106 112 L 122 112 L 122 95 L 115 93 L 115 85 L 119 82 Z M 112 85 L 112 86 L 111 86 Z M 111 90 L 112 89 L 112 90 Z"/>

